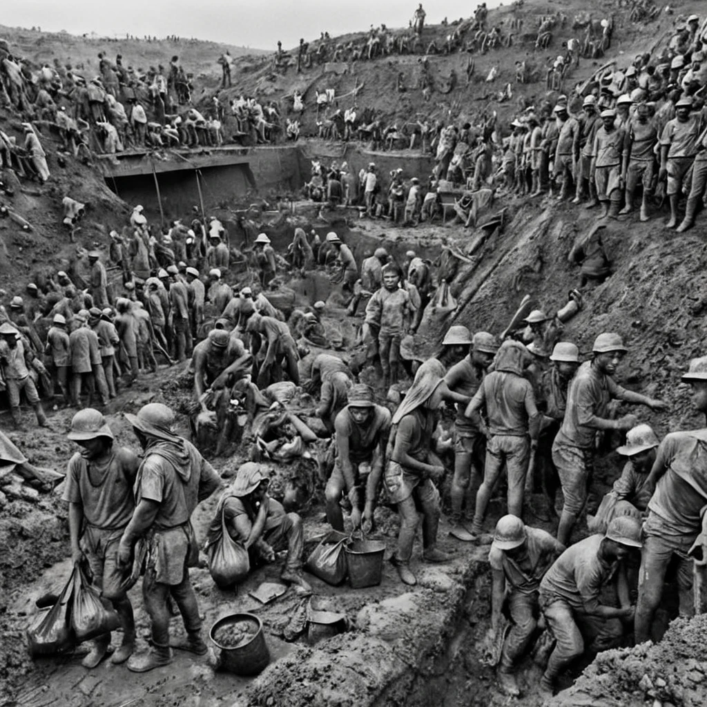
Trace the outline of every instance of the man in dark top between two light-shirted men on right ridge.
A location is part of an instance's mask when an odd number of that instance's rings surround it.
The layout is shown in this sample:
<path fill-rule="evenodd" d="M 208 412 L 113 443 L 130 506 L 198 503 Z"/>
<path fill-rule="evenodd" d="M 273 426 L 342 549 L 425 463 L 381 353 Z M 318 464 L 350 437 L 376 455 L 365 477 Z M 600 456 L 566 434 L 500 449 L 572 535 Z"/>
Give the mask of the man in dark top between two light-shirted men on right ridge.
<path fill-rule="evenodd" d="M 633 194 L 639 180 L 643 185 L 641 201 L 641 221 L 648 221 L 648 197 L 653 189 L 655 174 L 655 144 L 658 142 L 658 127 L 650 118 L 650 107 L 640 103 L 636 109 L 636 118 L 626 126 L 624 139 L 623 180 L 626 185 L 626 206 L 619 214 L 633 211 Z"/>

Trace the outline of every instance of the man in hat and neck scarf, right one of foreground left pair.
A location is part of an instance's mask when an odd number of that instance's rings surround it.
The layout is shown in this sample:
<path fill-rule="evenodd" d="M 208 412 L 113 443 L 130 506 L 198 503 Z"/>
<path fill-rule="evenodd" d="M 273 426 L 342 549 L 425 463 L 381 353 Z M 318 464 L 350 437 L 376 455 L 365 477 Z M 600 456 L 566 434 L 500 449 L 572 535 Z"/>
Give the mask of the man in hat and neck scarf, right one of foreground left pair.
<path fill-rule="evenodd" d="M 135 511 L 123 531 L 117 551 L 119 567 L 132 563 L 135 544 L 146 545 L 142 583 L 145 610 L 152 624 L 152 650 L 133 655 L 127 667 L 146 672 L 172 662 L 172 650 L 181 648 L 204 655 L 197 596 L 189 582 L 189 566 L 198 547 L 190 522 L 194 508 L 211 496 L 221 479 L 192 443 L 173 432 L 175 415 L 166 405 L 149 403 L 137 415 L 125 414 L 141 448 L 143 461 L 135 481 Z M 169 597 L 177 602 L 187 638 L 170 643 Z"/>

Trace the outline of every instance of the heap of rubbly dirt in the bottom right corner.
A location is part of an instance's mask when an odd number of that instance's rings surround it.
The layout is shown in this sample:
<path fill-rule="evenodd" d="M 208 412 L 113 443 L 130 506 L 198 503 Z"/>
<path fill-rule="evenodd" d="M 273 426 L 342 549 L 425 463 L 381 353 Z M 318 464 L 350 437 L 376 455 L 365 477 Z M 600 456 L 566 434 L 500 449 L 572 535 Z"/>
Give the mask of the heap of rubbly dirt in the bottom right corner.
<path fill-rule="evenodd" d="M 662 641 L 607 650 L 545 707 L 702 707 L 707 703 L 707 614 L 675 619 Z"/>

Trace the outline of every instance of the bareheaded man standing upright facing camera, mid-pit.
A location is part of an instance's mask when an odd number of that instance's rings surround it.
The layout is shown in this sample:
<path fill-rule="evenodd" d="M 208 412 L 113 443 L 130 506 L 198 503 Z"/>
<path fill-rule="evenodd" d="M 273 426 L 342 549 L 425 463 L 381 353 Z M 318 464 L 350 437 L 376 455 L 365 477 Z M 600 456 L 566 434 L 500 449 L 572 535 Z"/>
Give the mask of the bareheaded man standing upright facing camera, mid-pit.
<path fill-rule="evenodd" d="M 383 268 L 383 286 L 366 305 L 366 324 L 370 337 L 378 341 L 378 356 L 383 372 L 383 387 L 398 381 L 400 341 L 410 329 L 414 308 L 407 291 L 399 286 L 400 269 L 395 263 Z"/>

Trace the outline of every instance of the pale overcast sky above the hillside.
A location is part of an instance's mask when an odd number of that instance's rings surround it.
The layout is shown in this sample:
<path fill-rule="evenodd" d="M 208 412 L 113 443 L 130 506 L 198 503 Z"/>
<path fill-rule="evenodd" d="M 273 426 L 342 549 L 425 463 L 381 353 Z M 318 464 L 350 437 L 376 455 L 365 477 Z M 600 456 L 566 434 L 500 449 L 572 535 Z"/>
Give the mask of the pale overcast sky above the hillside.
<path fill-rule="evenodd" d="M 508 0 L 510 1 L 510 0 Z M 501 4 L 487 0 L 487 6 Z M 475 0 L 436 0 L 423 3 L 426 21 L 437 24 L 468 17 Z M 277 40 L 293 47 L 300 37 L 310 40 L 366 30 L 385 23 L 407 25 L 415 0 L 6 0 L 0 23 L 10 27 L 40 26 L 42 30 L 71 34 L 95 32 L 101 36 L 179 35 L 227 42 L 257 49 L 275 49 Z"/>

